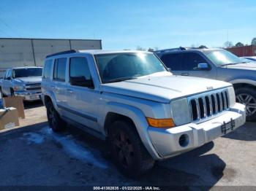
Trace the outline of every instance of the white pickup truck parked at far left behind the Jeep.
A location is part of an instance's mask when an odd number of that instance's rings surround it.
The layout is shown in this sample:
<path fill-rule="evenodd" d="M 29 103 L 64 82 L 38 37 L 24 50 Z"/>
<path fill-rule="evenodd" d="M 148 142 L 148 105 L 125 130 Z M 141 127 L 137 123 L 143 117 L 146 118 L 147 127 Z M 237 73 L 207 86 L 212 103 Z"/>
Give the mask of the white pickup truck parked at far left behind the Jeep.
<path fill-rule="evenodd" d="M 22 96 L 26 101 L 40 99 L 42 67 L 17 67 L 7 69 L 0 79 L 2 96 Z"/>

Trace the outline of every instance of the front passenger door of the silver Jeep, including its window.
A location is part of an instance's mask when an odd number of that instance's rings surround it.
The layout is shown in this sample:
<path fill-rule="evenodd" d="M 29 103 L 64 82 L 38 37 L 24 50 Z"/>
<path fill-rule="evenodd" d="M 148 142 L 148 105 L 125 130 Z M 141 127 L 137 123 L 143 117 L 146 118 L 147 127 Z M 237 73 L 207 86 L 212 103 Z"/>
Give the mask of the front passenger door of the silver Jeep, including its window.
<path fill-rule="evenodd" d="M 85 77 L 91 79 L 89 63 L 85 57 L 69 58 L 69 78 Z M 67 84 L 67 99 L 70 120 L 75 120 L 88 128 L 99 130 L 98 106 L 99 92 L 93 87 Z"/>

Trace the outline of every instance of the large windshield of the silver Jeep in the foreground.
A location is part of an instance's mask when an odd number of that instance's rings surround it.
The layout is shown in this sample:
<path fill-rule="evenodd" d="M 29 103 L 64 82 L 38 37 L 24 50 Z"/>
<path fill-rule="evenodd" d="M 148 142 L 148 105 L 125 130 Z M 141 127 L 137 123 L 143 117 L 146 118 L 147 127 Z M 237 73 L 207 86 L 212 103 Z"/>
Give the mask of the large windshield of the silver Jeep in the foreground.
<path fill-rule="evenodd" d="M 114 53 L 95 55 L 102 83 L 133 79 L 160 71 L 167 71 L 151 53 Z"/>

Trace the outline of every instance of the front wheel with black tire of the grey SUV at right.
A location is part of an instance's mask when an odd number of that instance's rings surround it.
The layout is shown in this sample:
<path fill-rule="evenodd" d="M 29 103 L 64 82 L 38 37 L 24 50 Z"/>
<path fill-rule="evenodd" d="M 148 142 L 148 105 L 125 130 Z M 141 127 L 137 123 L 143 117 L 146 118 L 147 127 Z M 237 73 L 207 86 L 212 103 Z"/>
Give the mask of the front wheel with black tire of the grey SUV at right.
<path fill-rule="evenodd" d="M 236 101 L 246 105 L 246 121 L 256 120 L 256 90 L 250 87 L 240 87 L 235 90 Z"/>

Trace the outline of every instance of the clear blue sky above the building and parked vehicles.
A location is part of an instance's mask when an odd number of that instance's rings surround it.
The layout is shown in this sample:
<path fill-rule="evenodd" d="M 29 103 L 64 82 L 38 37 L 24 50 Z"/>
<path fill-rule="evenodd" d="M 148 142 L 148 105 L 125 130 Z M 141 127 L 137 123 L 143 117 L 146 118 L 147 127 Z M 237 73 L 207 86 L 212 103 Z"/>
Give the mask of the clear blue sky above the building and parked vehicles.
<path fill-rule="evenodd" d="M 0 37 L 102 39 L 105 50 L 159 49 L 256 37 L 255 0 L 0 0 Z"/>

